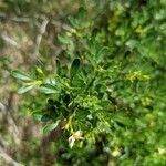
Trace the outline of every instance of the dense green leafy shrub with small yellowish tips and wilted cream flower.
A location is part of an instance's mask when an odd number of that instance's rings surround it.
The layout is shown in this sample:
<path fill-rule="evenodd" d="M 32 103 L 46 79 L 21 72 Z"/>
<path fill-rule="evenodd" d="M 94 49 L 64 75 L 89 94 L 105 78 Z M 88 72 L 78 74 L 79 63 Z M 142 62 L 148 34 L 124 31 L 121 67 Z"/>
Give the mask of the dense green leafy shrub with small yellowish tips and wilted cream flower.
<path fill-rule="evenodd" d="M 55 72 L 12 72 L 20 93 L 45 95 L 46 111 L 32 115 L 46 122 L 44 132 L 61 127 L 60 165 L 165 165 L 165 7 L 112 0 L 96 20 L 81 8 L 58 35 L 64 50 Z"/>

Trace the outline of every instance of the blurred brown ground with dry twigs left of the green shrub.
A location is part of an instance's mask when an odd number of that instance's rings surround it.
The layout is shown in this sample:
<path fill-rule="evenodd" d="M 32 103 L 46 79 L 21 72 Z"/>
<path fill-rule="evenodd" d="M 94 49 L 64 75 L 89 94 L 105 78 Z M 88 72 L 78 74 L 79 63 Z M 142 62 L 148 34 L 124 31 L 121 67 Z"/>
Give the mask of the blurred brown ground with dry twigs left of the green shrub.
<path fill-rule="evenodd" d="M 61 52 L 56 34 L 70 29 L 65 19 L 80 4 L 79 0 L 0 0 L 0 166 L 54 162 L 51 145 L 45 147 L 46 136 L 18 95 L 10 72 L 41 63 L 51 70 Z"/>

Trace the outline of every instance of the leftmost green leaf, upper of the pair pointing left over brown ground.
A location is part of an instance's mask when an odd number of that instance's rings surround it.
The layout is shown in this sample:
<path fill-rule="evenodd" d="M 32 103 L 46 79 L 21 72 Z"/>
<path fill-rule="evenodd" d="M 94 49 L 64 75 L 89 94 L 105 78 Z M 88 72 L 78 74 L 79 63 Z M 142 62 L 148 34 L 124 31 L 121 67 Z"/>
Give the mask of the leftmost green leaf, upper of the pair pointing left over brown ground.
<path fill-rule="evenodd" d="M 32 81 L 32 77 L 21 71 L 12 71 L 11 75 L 15 79 L 22 80 L 22 81 Z"/>

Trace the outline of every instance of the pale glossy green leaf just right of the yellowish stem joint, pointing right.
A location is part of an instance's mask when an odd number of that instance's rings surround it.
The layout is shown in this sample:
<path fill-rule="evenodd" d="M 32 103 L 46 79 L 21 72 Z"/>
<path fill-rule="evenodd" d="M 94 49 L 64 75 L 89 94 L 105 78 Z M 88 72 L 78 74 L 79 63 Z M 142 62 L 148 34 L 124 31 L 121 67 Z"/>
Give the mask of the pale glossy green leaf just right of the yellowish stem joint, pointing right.
<path fill-rule="evenodd" d="M 58 89 L 51 84 L 42 84 L 40 91 L 45 94 L 59 93 Z"/>

